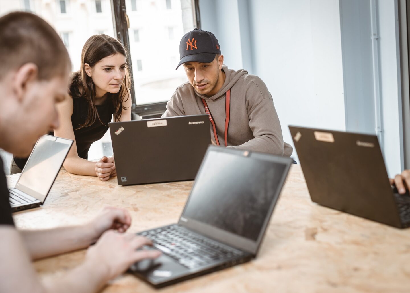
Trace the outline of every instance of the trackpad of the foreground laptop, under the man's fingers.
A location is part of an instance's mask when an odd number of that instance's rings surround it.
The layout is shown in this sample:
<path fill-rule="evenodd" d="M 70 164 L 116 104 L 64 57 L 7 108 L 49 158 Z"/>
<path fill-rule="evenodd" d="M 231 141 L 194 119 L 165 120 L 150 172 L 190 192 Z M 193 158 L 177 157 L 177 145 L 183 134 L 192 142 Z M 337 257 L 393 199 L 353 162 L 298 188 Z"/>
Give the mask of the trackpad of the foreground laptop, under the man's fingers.
<path fill-rule="evenodd" d="M 138 275 L 142 275 L 147 279 L 159 281 L 161 279 L 168 279 L 183 272 L 189 271 L 183 265 L 180 265 L 173 258 L 166 255 L 161 255 L 156 259 L 144 259 L 138 263 L 134 263 L 130 270 Z"/>

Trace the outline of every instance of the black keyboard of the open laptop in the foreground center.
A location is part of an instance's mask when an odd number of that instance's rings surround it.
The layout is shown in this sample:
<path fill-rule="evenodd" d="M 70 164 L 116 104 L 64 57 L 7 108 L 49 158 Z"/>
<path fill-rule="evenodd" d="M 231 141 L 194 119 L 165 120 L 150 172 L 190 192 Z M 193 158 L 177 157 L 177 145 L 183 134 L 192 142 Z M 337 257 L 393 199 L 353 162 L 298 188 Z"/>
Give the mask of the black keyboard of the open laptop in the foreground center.
<path fill-rule="evenodd" d="M 153 241 L 154 246 L 181 265 L 193 269 L 215 261 L 240 256 L 244 252 L 171 225 L 138 233 Z"/>

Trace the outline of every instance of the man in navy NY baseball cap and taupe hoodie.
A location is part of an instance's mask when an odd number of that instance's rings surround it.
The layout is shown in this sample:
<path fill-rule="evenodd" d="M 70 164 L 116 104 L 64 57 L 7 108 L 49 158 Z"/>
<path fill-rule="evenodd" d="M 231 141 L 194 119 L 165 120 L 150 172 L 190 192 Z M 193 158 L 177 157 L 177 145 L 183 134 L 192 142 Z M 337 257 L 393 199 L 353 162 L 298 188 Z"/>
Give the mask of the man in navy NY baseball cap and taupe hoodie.
<path fill-rule="evenodd" d="M 189 82 L 175 90 L 162 117 L 207 114 L 216 145 L 292 155 L 265 83 L 246 70 L 223 65 L 212 32 L 196 28 L 182 37 L 177 69 L 180 65 Z"/>

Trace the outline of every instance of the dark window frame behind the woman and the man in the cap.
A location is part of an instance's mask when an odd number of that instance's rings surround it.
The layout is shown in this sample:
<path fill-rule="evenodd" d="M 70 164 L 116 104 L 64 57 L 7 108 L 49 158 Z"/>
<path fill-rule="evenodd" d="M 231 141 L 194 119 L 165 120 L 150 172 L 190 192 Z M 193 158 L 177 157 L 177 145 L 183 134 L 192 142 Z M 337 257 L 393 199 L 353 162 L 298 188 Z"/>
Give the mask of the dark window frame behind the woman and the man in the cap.
<path fill-rule="evenodd" d="M 144 109 L 149 108 L 150 115 L 152 115 L 152 108 L 158 108 L 162 113 L 164 113 L 165 105 L 167 102 L 154 102 L 149 104 L 141 104 L 137 106 L 135 100 L 135 90 L 134 90 L 134 77 L 132 74 L 132 63 L 131 63 L 131 53 L 130 53 L 130 37 L 128 34 L 128 29 L 130 28 L 127 10 L 125 6 L 126 0 L 111 0 L 111 10 L 112 10 L 112 21 L 114 25 L 114 34 L 116 34 L 117 39 L 124 45 L 127 51 L 127 64 L 130 71 L 131 85 L 131 102 L 132 102 L 132 112 L 133 117 L 144 118 Z M 191 0 L 192 9 L 194 14 L 194 24 L 196 28 L 200 28 L 200 11 L 199 11 L 199 0 Z M 151 107 L 153 106 L 153 107 Z M 136 112 L 138 111 L 138 112 Z"/>

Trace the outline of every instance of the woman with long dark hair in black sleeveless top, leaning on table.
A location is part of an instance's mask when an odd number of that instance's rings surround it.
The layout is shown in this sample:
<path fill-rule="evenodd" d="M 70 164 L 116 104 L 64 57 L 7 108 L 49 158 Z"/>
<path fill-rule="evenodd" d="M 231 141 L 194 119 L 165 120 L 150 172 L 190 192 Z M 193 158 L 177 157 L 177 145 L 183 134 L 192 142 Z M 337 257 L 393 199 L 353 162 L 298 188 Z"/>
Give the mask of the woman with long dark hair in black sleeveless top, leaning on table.
<path fill-rule="evenodd" d="M 114 121 L 131 120 L 130 76 L 126 51 L 118 40 L 108 35 L 93 35 L 84 44 L 81 69 L 71 78 L 70 98 L 57 106 L 60 126 L 55 136 L 75 140 L 64 167 L 67 171 L 98 176 L 102 181 L 116 175 L 114 158 L 88 161 L 91 143 L 103 137 Z M 23 168 L 27 159 L 14 159 Z M 16 169 L 12 165 L 11 173 Z"/>

